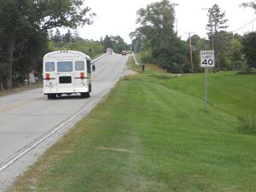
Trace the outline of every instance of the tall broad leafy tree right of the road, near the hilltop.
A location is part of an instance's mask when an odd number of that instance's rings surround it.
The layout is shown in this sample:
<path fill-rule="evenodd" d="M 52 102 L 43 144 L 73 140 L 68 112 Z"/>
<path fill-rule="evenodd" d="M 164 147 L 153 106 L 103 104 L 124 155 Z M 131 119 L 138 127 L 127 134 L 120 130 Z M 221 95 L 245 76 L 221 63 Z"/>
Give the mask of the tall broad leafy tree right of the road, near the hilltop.
<path fill-rule="evenodd" d="M 172 73 L 188 72 L 189 60 L 187 44 L 177 38 L 174 32 L 174 7 L 176 4 L 168 0 L 151 3 L 146 9 L 137 11 L 137 28 L 134 34 L 142 34 L 143 51 L 147 57 L 143 61 L 150 61 L 166 68 Z M 131 33 L 132 35 L 132 33 Z"/>

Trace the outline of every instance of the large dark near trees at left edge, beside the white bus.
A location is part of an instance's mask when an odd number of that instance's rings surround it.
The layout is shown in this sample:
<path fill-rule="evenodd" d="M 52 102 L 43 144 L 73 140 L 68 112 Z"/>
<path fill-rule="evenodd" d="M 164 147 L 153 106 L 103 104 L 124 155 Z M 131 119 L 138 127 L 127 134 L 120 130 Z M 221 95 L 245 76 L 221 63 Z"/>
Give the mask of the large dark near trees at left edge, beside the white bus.
<path fill-rule="evenodd" d="M 83 0 L 0 0 L 0 83 L 13 88 L 41 65 L 50 29 L 90 25 L 94 16 Z"/>

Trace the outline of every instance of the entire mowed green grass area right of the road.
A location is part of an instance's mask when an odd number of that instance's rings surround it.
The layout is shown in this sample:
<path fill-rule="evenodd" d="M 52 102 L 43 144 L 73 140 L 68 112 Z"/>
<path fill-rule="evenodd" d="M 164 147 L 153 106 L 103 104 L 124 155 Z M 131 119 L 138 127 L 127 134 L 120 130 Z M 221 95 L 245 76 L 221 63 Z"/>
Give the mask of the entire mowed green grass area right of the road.
<path fill-rule="evenodd" d="M 210 74 L 206 112 L 203 74 L 147 70 L 122 79 L 10 191 L 255 191 L 256 137 L 237 129 L 255 115 L 255 75 Z"/>

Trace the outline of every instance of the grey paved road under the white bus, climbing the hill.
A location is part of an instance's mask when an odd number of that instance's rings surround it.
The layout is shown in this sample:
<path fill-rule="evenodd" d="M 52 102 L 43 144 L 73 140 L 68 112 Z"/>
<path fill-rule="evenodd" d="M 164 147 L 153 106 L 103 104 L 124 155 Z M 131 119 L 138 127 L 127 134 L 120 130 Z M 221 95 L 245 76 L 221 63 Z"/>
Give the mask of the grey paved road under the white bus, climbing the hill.
<path fill-rule="evenodd" d="M 46 148 L 102 102 L 122 75 L 127 58 L 105 55 L 95 61 L 90 98 L 48 100 L 42 89 L 0 97 L 0 191 L 6 191 Z"/>

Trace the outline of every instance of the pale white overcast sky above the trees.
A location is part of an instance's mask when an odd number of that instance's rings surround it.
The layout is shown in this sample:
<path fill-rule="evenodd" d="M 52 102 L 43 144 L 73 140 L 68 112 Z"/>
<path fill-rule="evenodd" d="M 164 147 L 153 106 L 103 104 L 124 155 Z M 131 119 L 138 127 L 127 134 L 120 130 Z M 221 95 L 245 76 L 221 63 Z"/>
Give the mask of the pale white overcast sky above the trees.
<path fill-rule="evenodd" d="M 249 0 L 176 0 L 176 19 L 178 36 L 182 39 L 189 37 L 188 32 L 195 32 L 201 38 L 206 37 L 207 10 L 217 3 L 220 10 L 225 11 L 228 19 L 229 32 L 243 34 L 256 30 L 256 14 L 252 8 L 242 8 L 242 2 Z M 129 33 L 137 28 L 137 10 L 146 8 L 150 3 L 160 0 L 84 0 L 84 4 L 96 13 L 96 18 L 91 26 L 79 29 L 82 38 L 100 40 L 106 35 L 119 35 L 130 44 Z M 254 26 L 252 20 L 254 21 Z M 250 23 L 251 22 L 251 23 Z M 250 24 L 248 24 L 250 23 Z M 247 25 L 248 24 L 248 25 Z M 247 25 L 247 26 L 246 26 Z M 244 27 L 242 27 L 244 26 Z M 175 26 L 176 27 L 176 26 Z M 241 28 L 240 30 L 237 30 Z M 253 29 L 254 28 L 254 29 Z"/>

